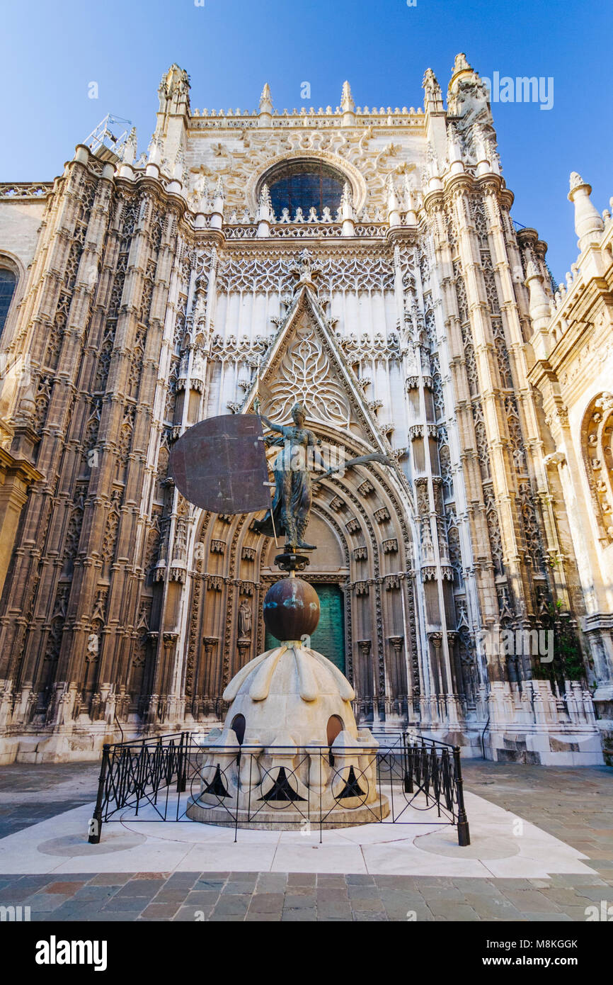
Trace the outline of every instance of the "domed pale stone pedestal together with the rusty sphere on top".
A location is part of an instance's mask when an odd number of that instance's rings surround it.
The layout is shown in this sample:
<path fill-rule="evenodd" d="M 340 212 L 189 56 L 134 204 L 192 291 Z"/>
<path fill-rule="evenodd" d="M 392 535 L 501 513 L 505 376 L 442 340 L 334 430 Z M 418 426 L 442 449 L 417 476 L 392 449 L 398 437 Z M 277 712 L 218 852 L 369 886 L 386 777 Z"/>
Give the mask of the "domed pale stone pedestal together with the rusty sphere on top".
<path fill-rule="evenodd" d="M 188 817 L 302 830 L 382 821 L 390 808 L 376 785 L 379 744 L 357 728 L 344 675 L 296 638 L 317 626 L 317 593 L 300 578 L 283 578 L 264 616 L 272 632 L 291 629 L 293 638 L 250 661 L 224 690 L 231 704 L 223 729 L 203 743 Z"/>

